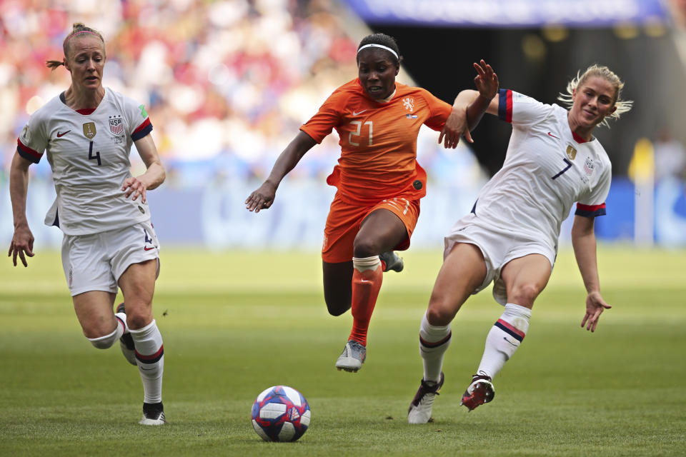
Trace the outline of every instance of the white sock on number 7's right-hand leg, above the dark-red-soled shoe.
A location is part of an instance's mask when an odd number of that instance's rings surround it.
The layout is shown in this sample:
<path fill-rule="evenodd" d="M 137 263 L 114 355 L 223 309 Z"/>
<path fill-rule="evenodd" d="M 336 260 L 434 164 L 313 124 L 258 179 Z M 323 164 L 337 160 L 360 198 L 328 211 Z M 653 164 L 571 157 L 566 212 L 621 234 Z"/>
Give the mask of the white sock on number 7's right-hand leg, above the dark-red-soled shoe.
<path fill-rule="evenodd" d="M 486 337 L 486 347 L 479 363 L 478 374 L 492 379 L 502 369 L 524 340 L 529 330 L 530 318 L 529 308 L 514 303 L 505 305 L 505 311 L 493 324 Z"/>

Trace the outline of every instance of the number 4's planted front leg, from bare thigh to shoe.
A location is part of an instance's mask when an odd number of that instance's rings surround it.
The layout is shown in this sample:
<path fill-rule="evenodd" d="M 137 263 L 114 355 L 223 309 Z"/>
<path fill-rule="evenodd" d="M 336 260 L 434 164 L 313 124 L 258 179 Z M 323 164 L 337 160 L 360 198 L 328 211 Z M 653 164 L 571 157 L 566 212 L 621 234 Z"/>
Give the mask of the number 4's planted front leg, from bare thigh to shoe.
<path fill-rule="evenodd" d="M 157 266 L 157 259 L 133 263 L 119 277 L 119 287 L 126 303 L 126 321 L 136 348 L 136 361 L 143 381 L 144 417 L 139 422 L 142 425 L 164 423 L 164 345 L 152 316 Z"/>

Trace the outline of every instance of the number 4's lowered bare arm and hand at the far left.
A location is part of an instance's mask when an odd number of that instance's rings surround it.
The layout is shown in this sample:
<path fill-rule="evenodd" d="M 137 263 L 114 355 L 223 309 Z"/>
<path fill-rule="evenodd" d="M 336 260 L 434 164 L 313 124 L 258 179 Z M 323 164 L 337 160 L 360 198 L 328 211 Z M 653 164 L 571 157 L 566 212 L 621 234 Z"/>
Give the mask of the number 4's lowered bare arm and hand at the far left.
<path fill-rule="evenodd" d="M 26 256 L 34 256 L 34 235 L 26 220 L 26 194 L 29 189 L 29 165 L 31 162 L 14 153 L 9 168 L 9 197 L 12 201 L 14 214 L 14 236 L 9 245 L 7 256 L 12 256 L 12 263 L 16 266 L 16 256 L 27 266 Z"/>

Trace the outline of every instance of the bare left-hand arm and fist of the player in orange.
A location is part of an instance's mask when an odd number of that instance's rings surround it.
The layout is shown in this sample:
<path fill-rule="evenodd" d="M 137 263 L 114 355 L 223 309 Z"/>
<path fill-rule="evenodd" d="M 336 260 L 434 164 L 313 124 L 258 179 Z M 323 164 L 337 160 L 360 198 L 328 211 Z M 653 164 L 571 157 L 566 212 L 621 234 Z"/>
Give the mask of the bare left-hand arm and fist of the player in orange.
<path fill-rule="evenodd" d="M 267 209 L 269 206 L 272 206 L 277 189 L 284 176 L 294 169 L 300 159 L 302 159 L 302 156 L 312 149 L 312 146 L 315 144 L 317 144 L 317 141 L 314 141 L 312 136 L 309 136 L 302 130 L 299 131 L 295 138 L 286 146 L 286 149 L 279 155 L 277 161 L 274 162 L 272 173 L 269 174 L 267 180 L 245 200 L 245 207 L 248 211 L 259 213 L 260 209 Z"/>

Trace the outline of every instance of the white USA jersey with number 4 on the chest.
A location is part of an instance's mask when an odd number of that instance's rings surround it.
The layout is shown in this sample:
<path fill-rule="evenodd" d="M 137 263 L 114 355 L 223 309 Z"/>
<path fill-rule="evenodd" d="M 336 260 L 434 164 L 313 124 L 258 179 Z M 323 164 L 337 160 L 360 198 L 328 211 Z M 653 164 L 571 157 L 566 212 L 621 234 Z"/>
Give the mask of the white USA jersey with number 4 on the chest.
<path fill-rule="evenodd" d="M 57 196 L 45 224 L 85 235 L 149 221 L 148 205 L 121 191 L 131 176 L 131 144 L 152 130 L 144 106 L 105 89 L 94 111 L 79 111 L 62 93 L 31 116 L 17 140 L 24 159 L 38 163 L 48 153 Z"/>

